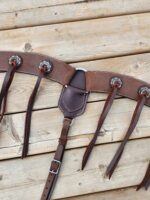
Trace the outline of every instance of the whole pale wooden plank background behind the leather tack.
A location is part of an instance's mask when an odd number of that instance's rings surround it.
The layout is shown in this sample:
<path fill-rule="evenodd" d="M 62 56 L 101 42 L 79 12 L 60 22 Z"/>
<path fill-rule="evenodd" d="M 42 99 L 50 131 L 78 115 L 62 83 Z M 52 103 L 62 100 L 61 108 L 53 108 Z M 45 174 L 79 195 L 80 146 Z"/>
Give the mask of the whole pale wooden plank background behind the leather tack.
<path fill-rule="evenodd" d="M 150 82 L 149 0 L 1 0 L 0 50 L 40 52 L 88 70 Z M 5 74 L 0 74 L 0 84 Z M 0 124 L 0 200 L 39 200 L 56 150 L 63 115 L 61 86 L 43 80 L 33 112 L 30 151 L 21 160 L 25 110 L 36 77 L 16 74 Z M 53 199 L 148 200 L 135 191 L 150 160 L 150 109 L 144 107 L 112 177 L 104 176 L 129 126 L 136 102 L 117 98 L 84 171 L 82 156 L 102 111 L 104 94 L 91 94 L 69 134 Z"/>

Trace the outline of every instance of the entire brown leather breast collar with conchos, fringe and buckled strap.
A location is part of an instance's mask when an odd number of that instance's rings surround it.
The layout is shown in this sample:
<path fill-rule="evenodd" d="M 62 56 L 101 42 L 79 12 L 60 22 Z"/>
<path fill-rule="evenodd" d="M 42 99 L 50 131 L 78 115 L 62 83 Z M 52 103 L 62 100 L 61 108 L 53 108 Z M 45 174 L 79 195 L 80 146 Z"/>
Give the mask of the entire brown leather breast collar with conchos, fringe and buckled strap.
<path fill-rule="evenodd" d="M 129 137 L 138 123 L 143 106 L 150 106 L 150 84 L 133 77 L 117 73 L 85 71 L 80 68 L 75 69 L 62 61 L 40 54 L 0 52 L 0 57 L 0 71 L 6 72 L 0 92 L 0 110 L 2 110 L 0 120 L 2 120 L 5 113 L 8 91 L 13 81 L 15 72 L 38 76 L 27 106 L 22 158 L 25 158 L 28 154 L 32 109 L 42 78 L 50 79 L 63 85 L 58 102 L 58 106 L 64 114 L 62 131 L 54 159 L 51 162 L 41 200 L 51 199 L 62 164 L 67 144 L 67 136 L 72 125 L 72 120 L 84 113 L 90 92 L 105 92 L 108 93 L 108 97 L 99 118 L 93 138 L 86 148 L 82 161 L 82 169 L 88 161 L 97 136 L 100 133 L 100 129 L 102 128 L 109 110 L 111 109 L 116 95 L 137 101 L 137 106 L 133 113 L 133 117 L 124 140 L 107 168 L 106 174 L 110 178 L 121 158 L 121 155 L 123 154 L 123 150 Z M 137 187 L 137 190 L 141 187 L 145 187 L 147 190 L 149 186 L 150 164 L 145 177 L 141 184 Z"/>

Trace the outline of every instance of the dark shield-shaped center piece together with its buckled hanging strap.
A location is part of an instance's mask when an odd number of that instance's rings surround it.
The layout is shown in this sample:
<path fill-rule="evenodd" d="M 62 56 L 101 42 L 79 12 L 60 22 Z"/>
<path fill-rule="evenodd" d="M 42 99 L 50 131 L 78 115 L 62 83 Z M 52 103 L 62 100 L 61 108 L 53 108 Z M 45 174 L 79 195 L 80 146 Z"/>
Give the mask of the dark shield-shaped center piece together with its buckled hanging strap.
<path fill-rule="evenodd" d="M 76 70 L 70 83 L 63 87 L 58 106 L 64 114 L 63 127 L 59 143 L 50 166 L 48 178 L 41 200 L 50 200 L 62 165 L 63 155 L 67 144 L 68 133 L 72 120 L 84 113 L 88 92 L 86 91 L 86 76 L 84 71 Z"/>

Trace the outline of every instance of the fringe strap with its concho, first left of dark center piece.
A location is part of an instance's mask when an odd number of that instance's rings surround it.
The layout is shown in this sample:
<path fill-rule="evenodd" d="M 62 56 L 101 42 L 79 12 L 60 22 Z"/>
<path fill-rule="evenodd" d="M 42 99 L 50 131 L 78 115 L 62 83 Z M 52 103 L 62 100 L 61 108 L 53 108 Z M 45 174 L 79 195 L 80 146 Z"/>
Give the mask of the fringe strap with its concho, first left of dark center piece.
<path fill-rule="evenodd" d="M 35 102 L 36 94 L 37 94 L 37 91 L 38 91 L 38 88 L 40 86 L 42 78 L 44 77 L 44 75 L 50 73 L 51 70 L 52 70 L 52 64 L 50 62 L 42 61 L 40 63 L 38 79 L 36 81 L 36 84 L 34 86 L 32 94 L 29 98 L 28 106 L 27 106 L 22 159 L 25 158 L 28 154 L 28 143 L 29 143 L 29 135 L 30 135 L 30 128 L 31 128 L 32 109 L 33 109 L 33 105 L 34 105 L 34 102 Z"/>

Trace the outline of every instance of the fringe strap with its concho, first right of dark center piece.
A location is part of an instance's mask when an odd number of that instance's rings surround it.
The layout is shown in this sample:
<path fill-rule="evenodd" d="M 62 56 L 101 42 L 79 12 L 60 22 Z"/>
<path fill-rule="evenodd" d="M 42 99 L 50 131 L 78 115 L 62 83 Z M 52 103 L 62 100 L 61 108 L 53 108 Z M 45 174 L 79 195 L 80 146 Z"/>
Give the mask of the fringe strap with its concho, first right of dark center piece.
<path fill-rule="evenodd" d="M 82 170 L 84 169 L 84 167 L 85 167 L 85 165 L 86 165 L 86 163 L 89 159 L 89 156 L 90 156 L 92 149 L 95 145 L 95 142 L 96 142 L 96 139 L 97 139 L 98 134 L 100 132 L 100 129 L 102 128 L 102 125 L 103 125 L 103 123 L 104 123 L 104 121 L 107 117 L 107 114 L 108 114 L 109 110 L 111 109 L 111 106 L 112 106 L 113 101 L 116 97 L 116 94 L 117 94 L 118 90 L 122 87 L 122 80 L 118 77 L 113 77 L 111 79 L 110 86 L 111 86 L 111 92 L 108 95 L 107 100 L 105 102 L 103 111 L 102 111 L 101 116 L 100 116 L 99 121 L 98 121 L 97 129 L 94 133 L 94 136 L 93 136 L 91 142 L 87 146 L 86 151 L 84 153 L 83 160 L 82 160 Z"/>

